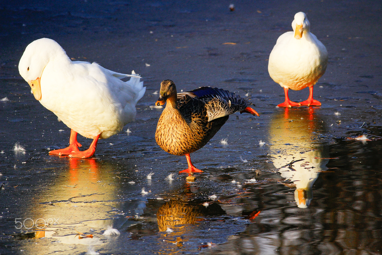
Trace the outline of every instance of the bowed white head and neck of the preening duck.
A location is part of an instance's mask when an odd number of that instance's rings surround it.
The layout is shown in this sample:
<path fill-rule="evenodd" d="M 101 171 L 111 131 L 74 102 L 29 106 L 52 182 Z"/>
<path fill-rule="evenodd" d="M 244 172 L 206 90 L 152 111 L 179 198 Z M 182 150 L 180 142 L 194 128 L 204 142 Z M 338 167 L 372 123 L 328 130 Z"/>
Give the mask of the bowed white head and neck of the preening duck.
<path fill-rule="evenodd" d="M 19 73 L 31 86 L 36 100 L 40 100 L 42 96 L 40 80 L 44 68 L 50 60 L 58 56 L 68 58 L 62 47 L 52 39 L 41 38 L 26 47 L 19 62 Z"/>

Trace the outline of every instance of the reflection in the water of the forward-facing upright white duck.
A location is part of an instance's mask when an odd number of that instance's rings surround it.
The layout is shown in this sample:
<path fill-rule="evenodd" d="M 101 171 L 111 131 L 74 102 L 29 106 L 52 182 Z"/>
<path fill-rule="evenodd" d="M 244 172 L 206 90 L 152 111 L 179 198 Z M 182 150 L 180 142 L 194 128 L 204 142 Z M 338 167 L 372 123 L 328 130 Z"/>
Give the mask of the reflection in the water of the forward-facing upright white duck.
<path fill-rule="evenodd" d="M 296 186 L 295 201 L 307 208 L 313 198 L 312 186 L 318 174 L 326 170 L 325 151 L 316 140 L 324 131 L 324 122 L 314 108 L 280 109 L 270 122 L 272 163 L 285 180 Z"/>

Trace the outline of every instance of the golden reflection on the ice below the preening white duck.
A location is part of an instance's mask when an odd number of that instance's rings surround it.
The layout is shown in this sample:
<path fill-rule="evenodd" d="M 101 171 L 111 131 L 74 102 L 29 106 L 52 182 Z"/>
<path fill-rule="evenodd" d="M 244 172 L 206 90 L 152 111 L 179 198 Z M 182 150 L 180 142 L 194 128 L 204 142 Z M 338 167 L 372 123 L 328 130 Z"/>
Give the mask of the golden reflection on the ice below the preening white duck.
<path fill-rule="evenodd" d="M 113 165 L 95 159 L 68 160 L 69 171 L 66 167 L 52 169 L 57 173 L 57 180 L 45 187 L 44 193 L 36 194 L 24 215 L 40 219 L 39 223 L 44 220 L 50 223 L 40 226 L 41 231 L 35 232 L 34 237 L 54 238 L 58 240 L 56 245 L 103 245 L 102 239 L 107 236 L 102 234 L 110 228 L 108 226 L 119 224 L 120 218 L 118 210 L 115 211 L 119 186 Z M 39 246 L 23 248 L 35 254 L 37 251 L 30 249 L 39 249 Z M 45 252 L 53 252 L 55 248 L 49 247 Z M 67 249 L 67 246 L 60 248 Z"/>

